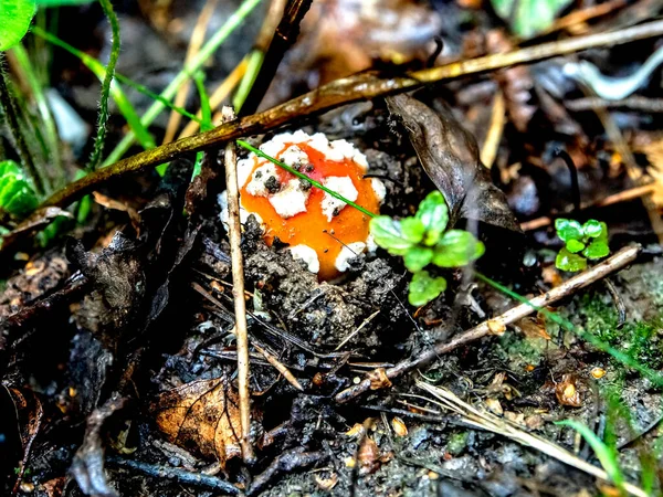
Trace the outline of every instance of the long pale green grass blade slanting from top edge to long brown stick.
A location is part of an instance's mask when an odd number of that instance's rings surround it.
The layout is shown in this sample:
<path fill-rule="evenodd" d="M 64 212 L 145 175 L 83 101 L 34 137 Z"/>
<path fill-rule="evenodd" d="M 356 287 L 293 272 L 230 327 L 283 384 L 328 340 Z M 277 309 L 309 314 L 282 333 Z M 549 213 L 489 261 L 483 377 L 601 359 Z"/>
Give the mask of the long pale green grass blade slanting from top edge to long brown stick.
<path fill-rule="evenodd" d="M 187 64 L 170 84 L 161 92 L 161 96 L 168 101 L 172 99 L 179 87 L 190 78 L 196 71 L 212 56 L 212 54 L 221 46 L 228 36 L 244 21 L 246 15 L 261 2 L 261 0 L 244 0 L 240 8 L 228 19 L 228 21 L 214 33 L 214 35 L 202 46 L 200 52 Z M 157 116 L 166 108 L 161 102 L 156 102 L 144 114 L 141 123 L 144 126 L 149 126 Z M 134 142 L 135 136 L 133 133 L 127 134 L 123 140 L 115 147 L 115 150 L 104 161 L 104 166 L 117 162 L 120 157 L 129 149 Z"/>

